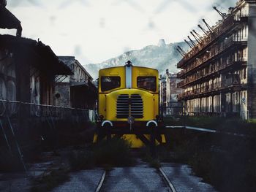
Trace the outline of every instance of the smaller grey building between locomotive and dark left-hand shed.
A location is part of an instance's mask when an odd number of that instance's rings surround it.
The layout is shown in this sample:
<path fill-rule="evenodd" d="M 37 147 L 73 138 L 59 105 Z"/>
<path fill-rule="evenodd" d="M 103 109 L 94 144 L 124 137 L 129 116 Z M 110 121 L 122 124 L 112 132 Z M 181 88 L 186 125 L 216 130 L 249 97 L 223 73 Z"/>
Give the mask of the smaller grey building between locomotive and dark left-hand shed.
<path fill-rule="evenodd" d="M 55 103 L 62 107 L 95 109 L 97 88 L 91 75 L 74 56 L 59 56 L 59 59 L 72 70 L 70 76 L 56 77 Z"/>

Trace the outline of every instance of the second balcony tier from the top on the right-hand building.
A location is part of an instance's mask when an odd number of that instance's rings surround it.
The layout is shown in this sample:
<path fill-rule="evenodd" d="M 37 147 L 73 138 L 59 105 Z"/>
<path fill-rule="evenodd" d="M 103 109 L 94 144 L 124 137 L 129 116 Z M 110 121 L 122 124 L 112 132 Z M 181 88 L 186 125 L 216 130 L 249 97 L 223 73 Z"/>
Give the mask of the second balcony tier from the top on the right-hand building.
<path fill-rule="evenodd" d="M 234 40 L 234 39 L 227 39 L 225 41 L 225 44 L 220 46 L 218 50 L 211 50 L 211 54 L 208 55 L 208 57 L 204 57 L 203 59 L 197 59 L 197 62 L 194 65 L 188 66 L 186 69 L 183 69 L 181 72 L 177 74 L 178 78 L 182 78 L 185 75 L 192 73 L 197 69 L 199 66 L 203 66 L 208 64 L 209 62 L 212 62 L 219 58 L 222 53 L 225 53 L 226 50 L 230 50 L 230 48 L 237 47 L 237 46 L 246 46 L 247 42 L 246 41 L 241 41 L 241 40 Z M 243 58 L 244 60 L 244 58 Z"/>

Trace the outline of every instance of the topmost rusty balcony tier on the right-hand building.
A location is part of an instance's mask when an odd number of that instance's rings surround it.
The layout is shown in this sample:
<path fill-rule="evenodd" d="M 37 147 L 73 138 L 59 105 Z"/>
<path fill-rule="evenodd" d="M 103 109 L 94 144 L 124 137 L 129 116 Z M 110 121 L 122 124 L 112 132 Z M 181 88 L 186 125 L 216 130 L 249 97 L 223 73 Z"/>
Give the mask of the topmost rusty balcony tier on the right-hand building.
<path fill-rule="evenodd" d="M 195 56 L 198 55 L 197 53 L 203 53 L 208 46 L 220 39 L 223 34 L 227 35 L 227 32 L 239 23 L 248 23 L 248 15 L 229 15 L 222 23 L 214 27 L 212 33 L 209 32 L 200 43 L 197 43 L 195 47 L 189 50 L 187 55 L 178 62 L 177 67 L 182 68 L 189 61 L 195 59 Z"/>

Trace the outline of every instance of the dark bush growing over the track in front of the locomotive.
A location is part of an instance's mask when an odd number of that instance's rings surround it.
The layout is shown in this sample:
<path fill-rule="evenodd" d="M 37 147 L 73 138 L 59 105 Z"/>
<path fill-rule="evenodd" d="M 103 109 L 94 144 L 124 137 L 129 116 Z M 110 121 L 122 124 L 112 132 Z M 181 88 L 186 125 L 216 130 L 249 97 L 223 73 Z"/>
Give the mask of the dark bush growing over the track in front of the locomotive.
<path fill-rule="evenodd" d="M 72 170 L 91 169 L 94 166 L 132 166 L 135 159 L 130 153 L 130 144 L 124 139 L 113 137 L 102 140 L 89 150 L 74 151 L 69 155 Z"/>

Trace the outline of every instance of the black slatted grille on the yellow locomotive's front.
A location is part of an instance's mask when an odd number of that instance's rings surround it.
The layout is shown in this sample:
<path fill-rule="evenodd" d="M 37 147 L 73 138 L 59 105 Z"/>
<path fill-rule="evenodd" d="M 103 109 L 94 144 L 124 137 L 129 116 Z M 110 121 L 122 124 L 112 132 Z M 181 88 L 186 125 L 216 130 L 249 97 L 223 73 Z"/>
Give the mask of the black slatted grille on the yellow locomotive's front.
<path fill-rule="evenodd" d="M 122 94 L 116 100 L 116 118 L 143 118 L 143 99 L 139 94 Z"/>

